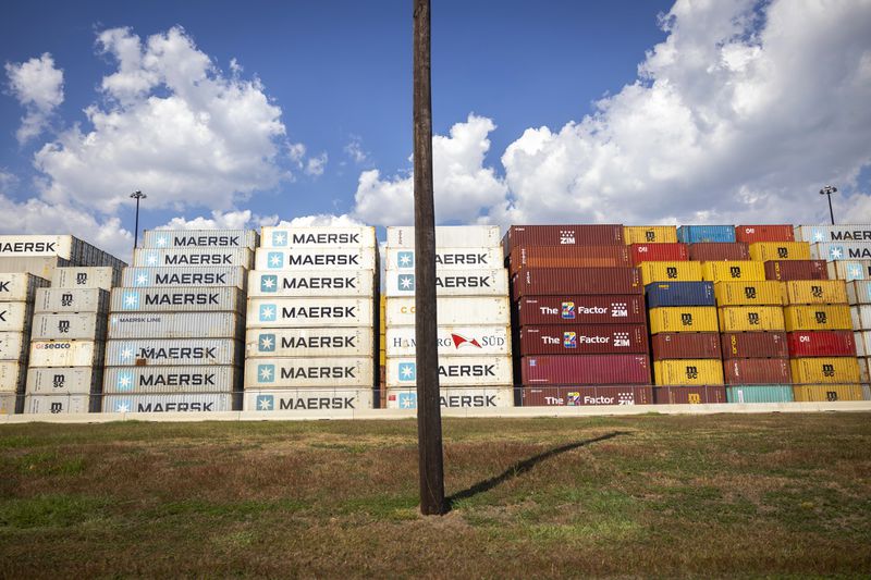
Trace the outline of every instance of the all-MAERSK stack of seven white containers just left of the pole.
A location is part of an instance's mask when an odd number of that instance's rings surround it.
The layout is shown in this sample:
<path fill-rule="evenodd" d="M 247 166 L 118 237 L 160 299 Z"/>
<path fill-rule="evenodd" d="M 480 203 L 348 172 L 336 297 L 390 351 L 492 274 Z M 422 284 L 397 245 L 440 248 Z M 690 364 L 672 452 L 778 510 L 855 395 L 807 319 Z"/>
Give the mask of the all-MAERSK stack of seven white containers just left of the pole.
<path fill-rule="evenodd" d="M 373 407 L 375 229 L 263 227 L 248 282 L 245 410 Z"/>

